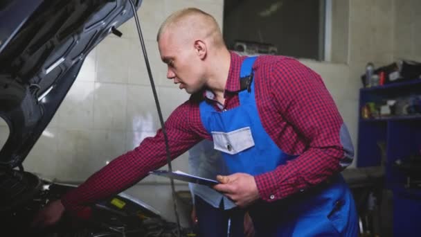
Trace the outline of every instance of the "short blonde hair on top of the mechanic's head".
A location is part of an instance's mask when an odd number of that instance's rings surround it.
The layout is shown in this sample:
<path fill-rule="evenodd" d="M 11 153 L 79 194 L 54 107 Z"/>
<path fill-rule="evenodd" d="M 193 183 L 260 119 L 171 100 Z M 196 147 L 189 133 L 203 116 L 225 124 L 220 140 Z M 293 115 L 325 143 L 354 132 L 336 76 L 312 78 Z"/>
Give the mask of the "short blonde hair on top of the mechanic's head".
<path fill-rule="evenodd" d="M 159 42 L 163 32 L 171 26 L 183 26 L 186 24 L 196 24 L 197 29 L 205 30 L 204 37 L 212 37 L 215 45 L 225 45 L 222 38 L 220 26 L 212 15 L 198 8 L 184 8 L 172 13 L 163 23 L 156 35 L 156 41 Z M 195 29 L 195 30 L 197 30 Z"/>

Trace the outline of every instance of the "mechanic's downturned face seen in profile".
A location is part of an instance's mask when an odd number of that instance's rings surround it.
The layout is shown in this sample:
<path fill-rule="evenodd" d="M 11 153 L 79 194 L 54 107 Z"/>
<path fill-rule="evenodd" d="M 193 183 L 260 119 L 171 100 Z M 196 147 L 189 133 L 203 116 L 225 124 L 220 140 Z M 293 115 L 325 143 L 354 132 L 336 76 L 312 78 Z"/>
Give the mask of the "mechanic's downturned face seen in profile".
<path fill-rule="evenodd" d="M 179 84 L 180 89 L 186 89 L 188 94 L 204 87 L 203 62 L 195 53 L 194 42 L 182 40 L 174 33 L 163 33 L 158 46 L 161 60 L 168 66 L 168 79 Z"/>

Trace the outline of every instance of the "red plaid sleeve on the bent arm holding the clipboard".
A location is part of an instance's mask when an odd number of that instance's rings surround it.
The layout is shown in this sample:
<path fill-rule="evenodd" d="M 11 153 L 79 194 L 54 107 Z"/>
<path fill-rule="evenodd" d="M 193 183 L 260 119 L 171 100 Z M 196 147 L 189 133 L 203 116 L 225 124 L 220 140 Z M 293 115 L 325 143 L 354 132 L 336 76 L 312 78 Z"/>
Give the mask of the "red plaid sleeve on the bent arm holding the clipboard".
<path fill-rule="evenodd" d="M 305 191 L 341 170 L 342 118 L 321 77 L 292 58 L 267 65 L 271 97 L 287 123 L 307 141 L 296 159 L 256 175 L 260 198 L 280 200 Z"/>

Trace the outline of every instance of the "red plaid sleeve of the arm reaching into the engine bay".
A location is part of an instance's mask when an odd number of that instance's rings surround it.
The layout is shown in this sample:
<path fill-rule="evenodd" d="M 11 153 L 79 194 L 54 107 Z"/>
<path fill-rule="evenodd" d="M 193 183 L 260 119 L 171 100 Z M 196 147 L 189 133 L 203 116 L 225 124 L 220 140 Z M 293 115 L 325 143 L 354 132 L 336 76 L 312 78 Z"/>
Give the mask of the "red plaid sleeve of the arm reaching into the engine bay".
<path fill-rule="evenodd" d="M 186 152 L 205 136 L 199 135 L 203 129 L 198 116 L 198 107 L 186 102 L 175 109 L 165 122 L 172 159 Z M 150 170 L 165 164 L 165 140 L 162 130 L 158 130 L 155 137 L 144 139 L 140 146 L 120 155 L 78 188 L 66 193 L 62 203 L 67 210 L 80 216 L 80 213 L 87 212 L 87 205 L 129 188 L 143 179 Z"/>

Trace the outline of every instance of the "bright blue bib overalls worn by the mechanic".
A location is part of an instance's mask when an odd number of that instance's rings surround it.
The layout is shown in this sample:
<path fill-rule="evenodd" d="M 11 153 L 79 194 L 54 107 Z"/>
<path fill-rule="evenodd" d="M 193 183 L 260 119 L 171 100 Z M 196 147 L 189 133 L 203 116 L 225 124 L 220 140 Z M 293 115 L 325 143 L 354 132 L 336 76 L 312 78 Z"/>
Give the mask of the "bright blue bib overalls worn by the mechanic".
<path fill-rule="evenodd" d="M 206 100 L 199 105 L 201 121 L 231 174 L 259 175 L 296 158 L 280 150 L 262 126 L 252 80 L 255 60 L 242 64 L 240 80 L 249 81 L 239 92 L 238 107 L 217 112 Z M 249 213 L 257 236 L 357 236 L 357 211 L 341 175 L 283 200 L 258 200 Z"/>

